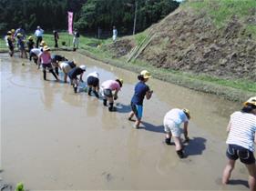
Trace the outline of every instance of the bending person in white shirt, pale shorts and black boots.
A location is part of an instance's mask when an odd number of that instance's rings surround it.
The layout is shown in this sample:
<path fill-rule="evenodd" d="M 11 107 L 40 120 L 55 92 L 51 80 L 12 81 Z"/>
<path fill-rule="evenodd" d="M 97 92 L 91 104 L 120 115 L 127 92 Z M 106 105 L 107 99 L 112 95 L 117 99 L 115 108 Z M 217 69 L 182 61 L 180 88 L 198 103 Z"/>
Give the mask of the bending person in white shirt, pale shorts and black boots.
<path fill-rule="evenodd" d="M 173 136 L 176 152 L 180 158 L 184 157 L 183 146 L 180 139 L 181 132 L 182 132 L 180 125 L 184 123 L 183 133 L 184 133 L 185 141 L 188 142 L 189 141 L 189 136 L 188 136 L 189 119 L 190 119 L 190 114 L 188 109 L 174 108 L 174 109 L 171 109 L 164 116 L 163 123 L 164 123 L 165 132 L 167 133 L 165 142 L 167 145 L 170 145 L 170 139 L 171 139 L 171 136 Z"/>

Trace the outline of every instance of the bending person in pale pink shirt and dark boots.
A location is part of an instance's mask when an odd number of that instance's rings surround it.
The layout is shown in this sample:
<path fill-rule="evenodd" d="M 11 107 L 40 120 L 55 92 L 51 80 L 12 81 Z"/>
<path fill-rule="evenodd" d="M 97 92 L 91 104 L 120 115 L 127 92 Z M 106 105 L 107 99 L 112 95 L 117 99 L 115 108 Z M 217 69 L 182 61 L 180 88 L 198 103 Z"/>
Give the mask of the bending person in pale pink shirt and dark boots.
<path fill-rule="evenodd" d="M 107 106 L 109 103 L 108 111 L 114 111 L 114 100 L 118 99 L 118 91 L 123 85 L 122 79 L 107 80 L 101 84 L 101 92 L 103 96 L 103 105 Z M 115 91 L 114 94 L 112 91 Z"/>

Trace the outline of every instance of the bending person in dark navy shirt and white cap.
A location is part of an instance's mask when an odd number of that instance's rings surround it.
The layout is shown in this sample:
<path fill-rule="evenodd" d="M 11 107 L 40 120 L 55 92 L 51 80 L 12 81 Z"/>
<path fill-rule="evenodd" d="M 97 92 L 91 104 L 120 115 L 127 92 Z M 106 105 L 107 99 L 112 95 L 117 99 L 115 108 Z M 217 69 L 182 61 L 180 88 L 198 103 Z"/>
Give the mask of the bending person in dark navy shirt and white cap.
<path fill-rule="evenodd" d="M 77 93 L 77 86 L 79 84 L 79 80 L 77 75 L 80 75 L 80 82 L 83 81 L 83 74 L 86 71 L 86 65 L 80 65 L 79 67 L 72 68 L 68 73 L 68 77 L 70 78 L 70 82 L 74 87 L 74 92 Z"/>

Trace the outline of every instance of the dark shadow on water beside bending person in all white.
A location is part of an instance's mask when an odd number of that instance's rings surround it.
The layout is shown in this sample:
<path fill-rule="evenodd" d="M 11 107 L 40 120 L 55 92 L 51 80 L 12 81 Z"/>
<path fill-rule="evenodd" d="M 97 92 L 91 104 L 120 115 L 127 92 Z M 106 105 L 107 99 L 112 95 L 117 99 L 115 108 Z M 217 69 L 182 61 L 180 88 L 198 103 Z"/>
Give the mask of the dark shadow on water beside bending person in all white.
<path fill-rule="evenodd" d="M 189 140 L 188 146 L 185 146 L 185 152 L 188 156 L 202 155 L 205 150 L 206 139 L 202 137 L 193 137 Z"/>

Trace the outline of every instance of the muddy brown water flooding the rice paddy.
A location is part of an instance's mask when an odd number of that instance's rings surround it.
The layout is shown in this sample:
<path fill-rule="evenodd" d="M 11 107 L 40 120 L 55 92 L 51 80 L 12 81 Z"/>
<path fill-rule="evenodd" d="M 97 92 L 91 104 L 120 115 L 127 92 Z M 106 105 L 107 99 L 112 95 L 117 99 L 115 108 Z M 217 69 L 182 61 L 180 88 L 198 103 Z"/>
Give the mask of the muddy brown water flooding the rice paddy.
<path fill-rule="evenodd" d="M 109 113 L 86 93 L 75 95 L 70 85 L 56 83 L 50 74 L 49 81 L 42 80 L 32 62 L 0 55 L 0 177 L 6 183 L 23 181 L 32 190 L 248 189 L 247 172 L 240 163 L 233 177 L 242 181 L 220 184 L 226 164 L 225 129 L 240 104 L 150 79 L 154 95 L 145 101 L 144 128 L 136 130 L 127 116 L 137 74 L 84 55 L 61 54 L 87 65 L 86 75 L 97 70 L 101 82 L 123 78 L 118 111 Z M 174 146 L 163 144 L 162 119 L 173 107 L 188 107 L 192 116 L 191 141 L 185 148 L 189 156 L 183 160 Z"/>

